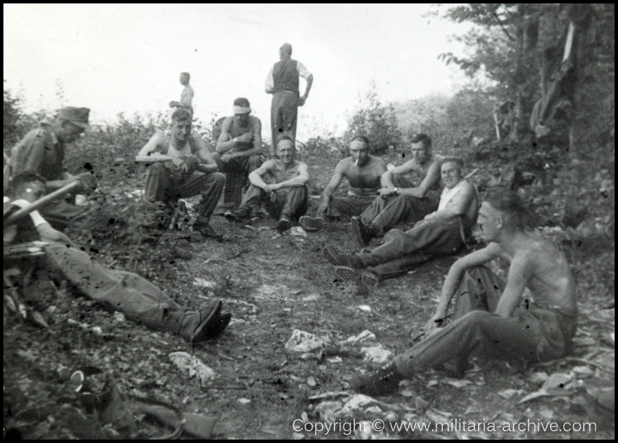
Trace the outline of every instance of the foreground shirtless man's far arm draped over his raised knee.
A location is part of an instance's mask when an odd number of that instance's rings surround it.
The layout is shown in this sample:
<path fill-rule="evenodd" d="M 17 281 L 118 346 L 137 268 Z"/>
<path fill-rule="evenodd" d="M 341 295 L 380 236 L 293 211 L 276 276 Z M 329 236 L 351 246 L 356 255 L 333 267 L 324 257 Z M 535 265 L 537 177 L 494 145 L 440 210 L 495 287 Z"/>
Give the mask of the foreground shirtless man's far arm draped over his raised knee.
<path fill-rule="evenodd" d="M 440 293 L 440 299 L 437 307 L 435 308 L 435 314 L 429 319 L 425 325 L 425 331 L 431 331 L 434 328 L 442 326 L 444 318 L 446 317 L 446 311 L 448 311 L 448 305 L 450 300 L 455 295 L 461 277 L 464 276 L 464 271 L 469 267 L 481 265 L 488 261 L 494 260 L 500 256 L 501 247 L 498 243 L 490 243 L 485 248 L 474 251 L 461 259 L 458 259 L 453 263 L 453 266 L 448 270 L 444 285 L 442 285 L 442 292 Z"/>

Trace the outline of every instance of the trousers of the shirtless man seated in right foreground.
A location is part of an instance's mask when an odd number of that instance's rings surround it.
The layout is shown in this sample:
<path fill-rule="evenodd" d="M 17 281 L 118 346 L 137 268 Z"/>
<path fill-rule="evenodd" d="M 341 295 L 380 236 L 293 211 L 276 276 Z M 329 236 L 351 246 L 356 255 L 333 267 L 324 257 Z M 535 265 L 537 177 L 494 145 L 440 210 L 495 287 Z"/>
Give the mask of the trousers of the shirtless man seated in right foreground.
<path fill-rule="evenodd" d="M 503 284 L 488 267 L 466 270 L 455 291 L 455 321 L 396 357 L 402 374 L 472 354 L 485 359 L 549 361 L 564 357 L 575 335 L 575 313 L 540 307 L 520 307 L 508 318 L 495 315 Z"/>

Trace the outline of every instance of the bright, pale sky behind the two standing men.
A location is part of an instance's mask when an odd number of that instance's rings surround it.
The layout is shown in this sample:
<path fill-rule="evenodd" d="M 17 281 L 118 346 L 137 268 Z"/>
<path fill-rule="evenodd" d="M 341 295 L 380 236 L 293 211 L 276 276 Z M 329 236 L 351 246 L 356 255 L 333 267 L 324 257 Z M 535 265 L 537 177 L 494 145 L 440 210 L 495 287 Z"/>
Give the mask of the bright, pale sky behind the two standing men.
<path fill-rule="evenodd" d="M 448 36 L 464 25 L 424 18 L 429 8 L 4 4 L 3 77 L 31 110 L 87 106 L 104 122 L 118 112 L 169 110 L 180 99 L 179 73 L 188 71 L 196 117 L 231 115 L 233 99 L 247 97 L 266 136 L 272 96 L 264 80 L 288 42 L 314 75 L 299 108 L 302 140 L 317 128 L 345 130 L 372 80 L 385 102 L 456 90 L 463 76 L 437 56 L 461 53 Z M 301 94 L 304 87 L 301 80 Z"/>

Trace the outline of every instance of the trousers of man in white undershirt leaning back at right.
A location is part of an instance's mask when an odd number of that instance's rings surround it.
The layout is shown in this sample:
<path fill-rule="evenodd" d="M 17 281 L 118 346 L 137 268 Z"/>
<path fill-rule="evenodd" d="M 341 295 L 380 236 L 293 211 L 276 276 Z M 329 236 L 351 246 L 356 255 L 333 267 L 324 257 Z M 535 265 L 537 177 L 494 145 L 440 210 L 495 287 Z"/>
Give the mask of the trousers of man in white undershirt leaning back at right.
<path fill-rule="evenodd" d="M 457 217 L 432 218 L 419 221 L 411 230 L 391 229 L 383 243 L 369 252 L 359 252 L 365 267 L 402 259 L 416 251 L 424 254 L 454 254 L 464 246 L 461 239 L 461 221 Z"/>

